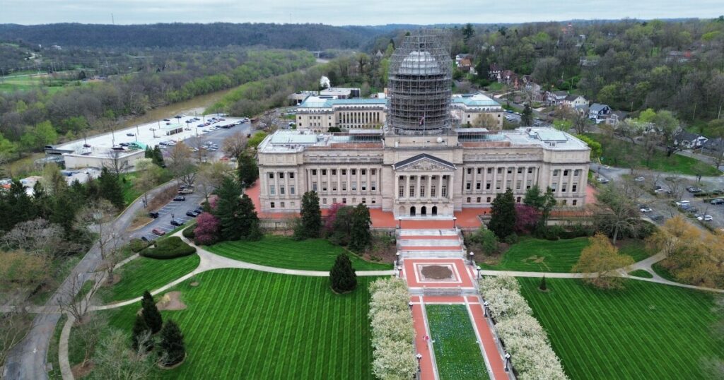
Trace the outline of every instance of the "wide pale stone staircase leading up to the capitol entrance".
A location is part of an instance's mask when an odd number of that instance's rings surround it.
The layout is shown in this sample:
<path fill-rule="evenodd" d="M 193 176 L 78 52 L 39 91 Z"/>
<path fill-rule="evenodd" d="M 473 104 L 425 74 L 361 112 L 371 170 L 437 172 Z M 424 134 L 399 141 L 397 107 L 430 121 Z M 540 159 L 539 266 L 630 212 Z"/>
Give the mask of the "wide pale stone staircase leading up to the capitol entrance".
<path fill-rule="evenodd" d="M 398 229 L 401 258 L 462 258 L 463 240 L 458 229 Z"/>

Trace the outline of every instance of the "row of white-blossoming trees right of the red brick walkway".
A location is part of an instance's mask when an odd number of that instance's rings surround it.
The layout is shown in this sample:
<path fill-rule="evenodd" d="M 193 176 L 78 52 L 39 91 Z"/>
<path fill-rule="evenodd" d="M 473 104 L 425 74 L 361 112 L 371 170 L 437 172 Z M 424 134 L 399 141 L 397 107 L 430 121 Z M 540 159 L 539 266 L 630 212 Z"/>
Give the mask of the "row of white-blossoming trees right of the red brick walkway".
<path fill-rule="evenodd" d="M 486 276 L 479 289 L 495 321 L 495 328 L 518 379 L 568 379 L 548 337 L 510 276 Z"/>

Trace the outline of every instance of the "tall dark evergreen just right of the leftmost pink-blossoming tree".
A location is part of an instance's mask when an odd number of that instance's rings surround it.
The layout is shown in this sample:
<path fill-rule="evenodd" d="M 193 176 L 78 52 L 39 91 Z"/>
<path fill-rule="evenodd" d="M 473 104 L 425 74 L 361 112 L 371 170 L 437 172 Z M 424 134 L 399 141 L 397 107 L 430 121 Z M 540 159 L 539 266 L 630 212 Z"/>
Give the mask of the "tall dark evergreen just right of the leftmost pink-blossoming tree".
<path fill-rule="evenodd" d="M 230 177 L 224 177 L 222 184 L 216 189 L 216 210 L 214 215 L 219 218 L 219 232 L 222 240 L 240 240 L 248 232 L 247 215 L 243 214 L 241 189 Z M 253 206 L 253 205 L 252 205 Z M 248 211 L 247 211 L 248 213 Z M 256 216 L 256 213 L 254 213 Z"/>

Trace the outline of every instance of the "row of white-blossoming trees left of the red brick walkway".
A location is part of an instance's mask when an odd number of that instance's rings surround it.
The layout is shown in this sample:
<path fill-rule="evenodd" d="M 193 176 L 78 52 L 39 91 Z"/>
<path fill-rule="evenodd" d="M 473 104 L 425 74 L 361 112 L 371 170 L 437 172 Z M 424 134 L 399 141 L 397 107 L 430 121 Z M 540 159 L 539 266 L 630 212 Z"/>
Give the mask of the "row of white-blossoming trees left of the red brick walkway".
<path fill-rule="evenodd" d="M 417 369 L 413 355 L 410 295 L 402 279 L 378 279 L 369 285 L 369 318 L 374 360 L 372 372 L 379 379 L 411 379 Z"/>

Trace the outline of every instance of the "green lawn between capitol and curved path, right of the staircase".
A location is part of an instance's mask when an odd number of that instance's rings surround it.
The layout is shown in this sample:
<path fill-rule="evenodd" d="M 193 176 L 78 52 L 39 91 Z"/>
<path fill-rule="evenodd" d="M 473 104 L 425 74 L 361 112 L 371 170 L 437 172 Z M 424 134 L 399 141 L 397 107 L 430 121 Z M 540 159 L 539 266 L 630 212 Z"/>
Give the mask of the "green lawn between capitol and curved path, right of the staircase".
<path fill-rule="evenodd" d="M 500 263 L 487 265 L 485 268 L 568 273 L 581 257 L 581 250 L 587 245 L 587 237 L 561 240 L 526 238 L 511 245 L 503 253 Z M 631 256 L 633 261 L 641 261 L 650 256 L 641 240 L 620 240 L 618 245 L 620 253 Z"/>

